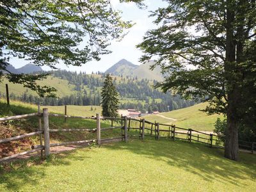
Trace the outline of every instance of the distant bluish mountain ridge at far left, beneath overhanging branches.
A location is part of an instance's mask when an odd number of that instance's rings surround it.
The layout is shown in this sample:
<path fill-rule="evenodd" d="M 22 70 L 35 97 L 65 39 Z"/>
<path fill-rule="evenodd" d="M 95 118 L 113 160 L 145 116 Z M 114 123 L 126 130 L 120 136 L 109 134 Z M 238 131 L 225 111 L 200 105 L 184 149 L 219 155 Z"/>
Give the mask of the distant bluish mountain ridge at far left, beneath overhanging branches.
<path fill-rule="evenodd" d="M 43 69 L 40 66 L 27 64 L 20 68 L 15 68 L 8 63 L 6 70 L 12 72 L 13 74 L 31 74 L 33 72 L 42 72 Z"/>

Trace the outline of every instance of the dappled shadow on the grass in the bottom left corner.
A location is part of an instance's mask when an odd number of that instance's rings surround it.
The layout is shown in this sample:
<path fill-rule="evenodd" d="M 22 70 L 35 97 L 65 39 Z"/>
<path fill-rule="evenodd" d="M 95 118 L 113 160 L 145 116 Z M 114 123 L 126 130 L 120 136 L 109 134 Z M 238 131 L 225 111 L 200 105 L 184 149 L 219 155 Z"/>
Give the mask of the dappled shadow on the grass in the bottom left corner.
<path fill-rule="evenodd" d="M 45 168 L 49 166 L 68 166 L 70 161 L 86 161 L 90 157 L 81 156 L 76 150 L 52 154 L 45 161 L 40 157 L 7 163 L 8 168 L 0 164 L 0 191 L 20 191 L 24 184 L 36 186 L 45 177 Z"/>

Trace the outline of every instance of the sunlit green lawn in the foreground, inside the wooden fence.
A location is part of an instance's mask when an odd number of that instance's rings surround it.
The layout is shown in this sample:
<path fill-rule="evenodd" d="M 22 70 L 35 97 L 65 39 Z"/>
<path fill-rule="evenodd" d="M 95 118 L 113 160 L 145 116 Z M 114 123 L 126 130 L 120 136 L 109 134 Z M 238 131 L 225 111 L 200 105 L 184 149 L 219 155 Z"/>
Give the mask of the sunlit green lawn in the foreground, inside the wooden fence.
<path fill-rule="evenodd" d="M 0 191 L 256 191 L 256 156 L 168 140 L 129 140 L 1 170 Z"/>

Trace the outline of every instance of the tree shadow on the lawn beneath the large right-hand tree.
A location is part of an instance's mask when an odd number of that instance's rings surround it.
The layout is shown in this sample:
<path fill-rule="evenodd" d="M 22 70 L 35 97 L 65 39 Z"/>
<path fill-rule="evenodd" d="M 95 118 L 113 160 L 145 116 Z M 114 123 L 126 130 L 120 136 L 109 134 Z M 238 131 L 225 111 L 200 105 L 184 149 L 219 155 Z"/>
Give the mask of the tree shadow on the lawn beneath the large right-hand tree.
<path fill-rule="evenodd" d="M 106 148 L 129 150 L 148 159 L 164 161 L 170 166 L 199 175 L 209 182 L 214 180 L 244 186 L 237 179 L 256 179 L 256 156 L 253 154 L 240 153 L 240 160 L 236 162 L 223 157 L 222 149 L 205 147 L 199 143 L 164 139 L 130 140 L 129 143 L 115 143 Z"/>

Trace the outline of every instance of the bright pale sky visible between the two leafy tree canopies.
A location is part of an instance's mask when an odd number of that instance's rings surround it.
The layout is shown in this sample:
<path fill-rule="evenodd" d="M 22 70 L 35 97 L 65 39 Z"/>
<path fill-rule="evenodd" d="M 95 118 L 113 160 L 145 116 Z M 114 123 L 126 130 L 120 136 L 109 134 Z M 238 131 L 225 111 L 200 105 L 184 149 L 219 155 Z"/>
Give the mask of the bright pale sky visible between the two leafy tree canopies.
<path fill-rule="evenodd" d="M 148 17 L 150 14 L 148 11 L 163 7 L 164 2 L 161 0 L 146 0 L 145 4 L 148 6 L 146 10 L 141 10 L 134 3 L 119 3 L 119 0 L 111 0 L 111 4 L 115 10 L 122 11 L 122 18 L 124 20 L 132 20 L 136 23 L 131 29 L 129 29 L 129 33 L 121 42 L 116 42 L 115 40 L 111 42 L 108 49 L 111 50 L 112 53 L 101 56 L 100 61 L 90 61 L 81 67 L 67 67 L 61 63 L 56 67 L 77 72 L 85 71 L 86 73 L 91 73 L 92 71 L 104 72 L 123 58 L 136 65 L 141 64 L 138 60 L 142 55 L 142 52 L 139 49 L 136 49 L 135 46 L 142 41 L 143 35 L 148 29 L 156 28 L 156 26 L 152 24 L 152 20 L 154 19 Z M 13 58 L 10 60 L 10 63 L 12 63 L 15 68 L 19 68 L 29 63 L 29 61 Z M 43 68 L 45 70 L 48 69 L 47 67 Z"/>

